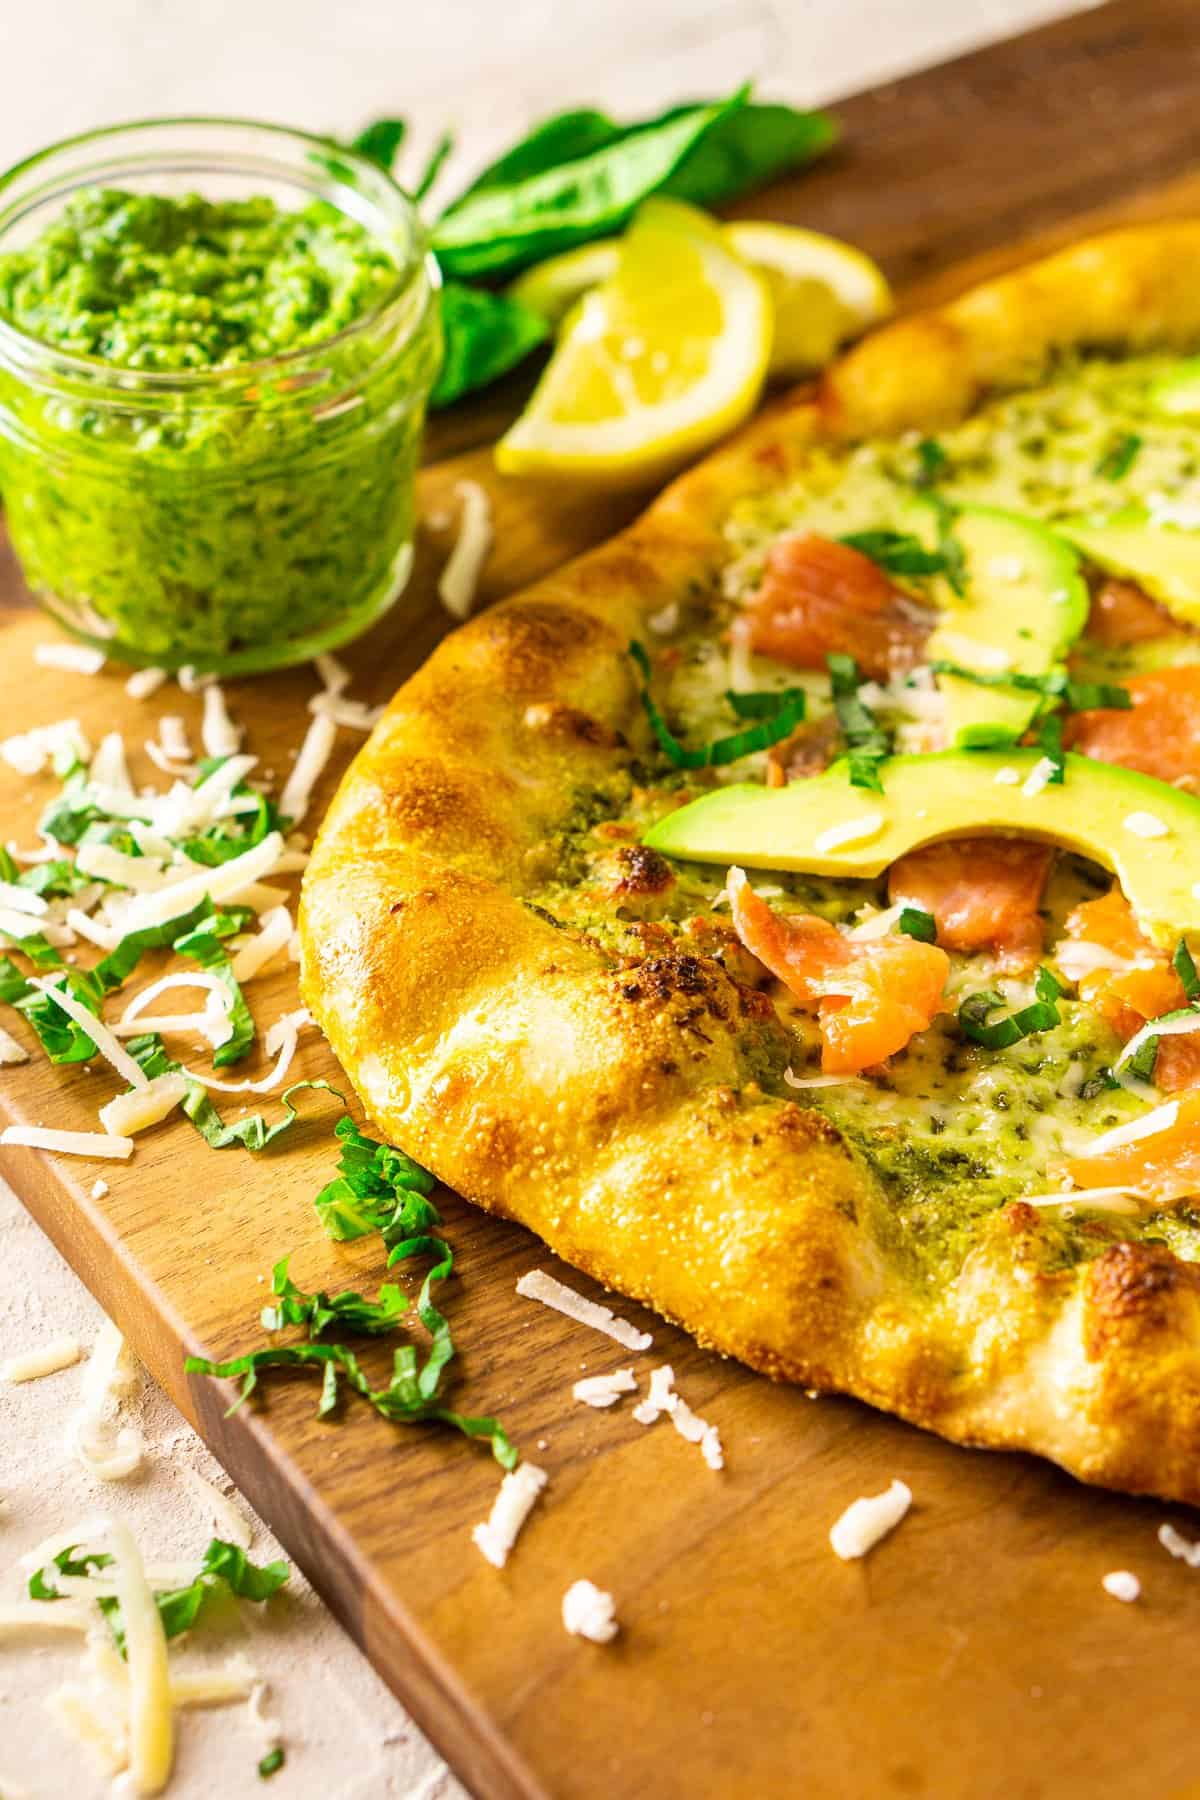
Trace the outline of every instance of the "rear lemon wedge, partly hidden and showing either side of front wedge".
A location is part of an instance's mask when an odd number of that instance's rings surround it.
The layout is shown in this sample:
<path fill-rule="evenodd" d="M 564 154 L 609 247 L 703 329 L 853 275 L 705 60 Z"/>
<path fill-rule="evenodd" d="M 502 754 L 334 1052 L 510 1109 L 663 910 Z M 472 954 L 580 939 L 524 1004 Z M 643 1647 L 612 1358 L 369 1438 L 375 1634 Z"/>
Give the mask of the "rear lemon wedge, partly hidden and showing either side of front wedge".
<path fill-rule="evenodd" d="M 851 245 L 799 225 L 739 220 L 725 241 L 766 281 L 775 306 L 768 373 L 781 378 L 824 367 L 840 344 L 892 311 L 883 272 Z M 558 326 L 588 288 L 612 281 L 621 239 L 603 238 L 552 256 L 520 275 L 509 293 Z"/>

